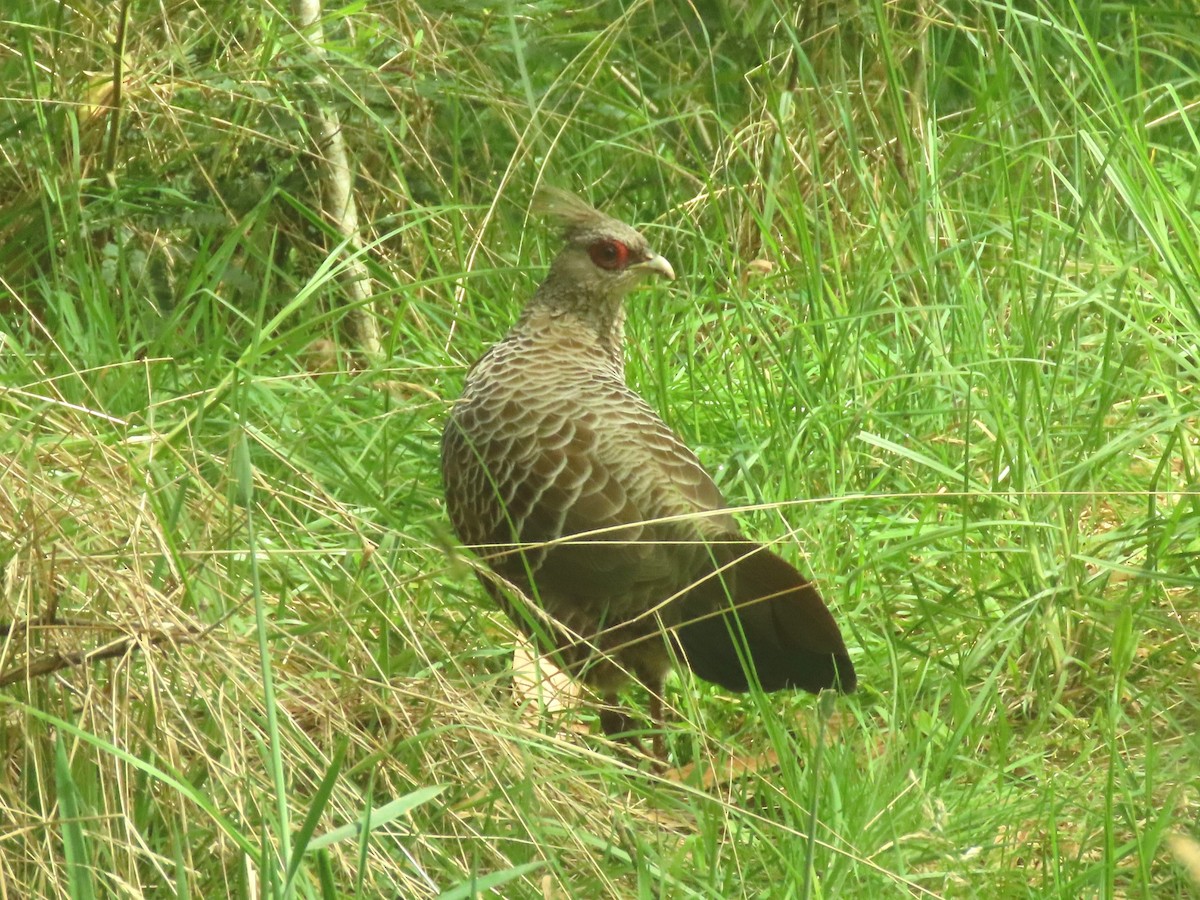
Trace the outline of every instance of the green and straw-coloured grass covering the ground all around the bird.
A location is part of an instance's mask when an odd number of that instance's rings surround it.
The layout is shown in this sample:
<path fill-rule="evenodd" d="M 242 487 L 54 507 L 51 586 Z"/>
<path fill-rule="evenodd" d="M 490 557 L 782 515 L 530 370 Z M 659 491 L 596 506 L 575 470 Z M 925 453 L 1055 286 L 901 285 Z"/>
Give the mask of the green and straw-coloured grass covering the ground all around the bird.
<path fill-rule="evenodd" d="M 378 365 L 282 12 L 131 5 L 115 131 L 115 13 L 5 13 L 0 896 L 1195 895 L 1194 11 L 792 7 L 326 11 Z M 512 708 L 437 454 L 541 179 L 683 276 L 629 378 L 822 584 L 828 721 Z"/>

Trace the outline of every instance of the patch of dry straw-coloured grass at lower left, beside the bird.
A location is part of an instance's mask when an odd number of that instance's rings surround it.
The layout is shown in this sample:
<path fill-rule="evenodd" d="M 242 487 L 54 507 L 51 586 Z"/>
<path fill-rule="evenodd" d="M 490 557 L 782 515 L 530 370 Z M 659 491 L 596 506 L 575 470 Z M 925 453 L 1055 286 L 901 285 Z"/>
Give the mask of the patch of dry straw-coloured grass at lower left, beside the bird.
<path fill-rule="evenodd" d="M 52 390 L 49 384 L 25 389 L 30 401 Z M 154 895 L 178 877 L 176 864 L 197 884 L 211 886 L 214 857 L 227 887 L 247 880 L 253 889 L 259 876 L 246 868 L 244 851 L 257 842 L 253 823 L 272 816 L 274 785 L 254 598 L 236 571 L 242 553 L 230 547 L 220 524 L 233 511 L 228 486 L 197 492 L 168 523 L 150 500 L 161 485 L 148 478 L 148 461 L 167 456 L 181 478 L 203 478 L 163 436 L 133 437 L 108 416 L 60 403 L 40 418 L 38 433 L 29 438 L 25 452 L 5 458 L 0 487 L 0 534 L 14 548 L 0 604 L 7 624 L 0 677 L 13 691 L 5 701 L 10 776 L 0 788 L 7 823 L 0 833 L 5 895 L 47 896 L 66 883 L 58 845 L 61 811 L 37 805 L 61 787 L 54 766 L 58 738 L 78 773 L 84 826 L 108 863 L 102 878 L 109 890 Z M 256 487 L 282 492 L 263 482 Z M 319 485 L 286 490 L 320 505 L 344 533 L 359 530 L 354 514 Z M 264 552 L 264 570 L 284 563 L 304 568 L 311 553 L 287 545 L 290 523 L 264 520 L 260 527 L 270 535 L 264 546 L 278 540 Z M 431 624 L 408 593 L 412 575 L 386 569 L 378 554 L 362 558 L 360 565 L 382 564 L 382 581 L 392 586 L 383 596 L 362 599 L 385 606 L 390 625 L 420 652 L 430 642 L 418 636 Z M 284 616 L 271 629 L 280 755 L 295 821 L 304 817 L 331 749 L 344 742 L 343 778 L 320 820 L 324 827 L 361 817 L 367 784 L 377 797 L 402 797 L 431 784 L 457 786 L 439 798 L 436 828 L 400 821 L 373 835 L 368 865 L 376 889 L 427 895 L 440 876 L 422 872 L 440 871 L 446 857 L 463 868 L 508 868 L 503 848 L 480 839 L 496 822 L 518 821 L 533 810 L 557 810 L 566 824 L 570 816 L 562 812 L 574 809 L 594 829 L 612 797 L 602 780 L 578 778 L 581 766 L 595 764 L 592 750 L 521 726 L 505 703 L 461 673 L 432 667 L 433 660 L 421 678 L 385 678 L 366 636 L 343 614 L 348 601 L 353 598 L 319 586 L 295 592 L 290 604 L 302 610 L 306 628 L 294 630 L 293 617 Z M 340 664 L 305 638 L 310 628 L 346 636 Z M 406 744 L 412 751 L 397 754 L 396 746 Z M 534 744 L 545 752 L 538 778 L 530 779 Z M 202 786 L 206 802 L 163 790 L 168 784 L 148 786 L 148 778 L 161 782 L 163 773 Z M 526 786 L 522 797 L 505 797 L 505 785 Z M 487 796 L 486 804 L 473 793 Z M 144 833 L 130 828 L 128 812 L 145 804 L 156 808 L 152 818 L 161 827 L 186 835 L 170 841 L 180 858 L 163 858 L 145 846 Z M 630 810 L 634 821 L 661 820 L 652 810 L 637 812 L 636 803 L 622 808 L 622 822 Z M 220 816 L 211 815 L 214 809 Z M 594 847 L 572 846 L 569 835 L 570 829 L 560 832 L 564 863 L 596 866 Z M 356 842 L 332 851 L 340 877 L 353 880 Z M 432 866 L 431 858 L 437 860 Z M 569 887 L 559 888 L 559 895 L 569 894 Z"/>

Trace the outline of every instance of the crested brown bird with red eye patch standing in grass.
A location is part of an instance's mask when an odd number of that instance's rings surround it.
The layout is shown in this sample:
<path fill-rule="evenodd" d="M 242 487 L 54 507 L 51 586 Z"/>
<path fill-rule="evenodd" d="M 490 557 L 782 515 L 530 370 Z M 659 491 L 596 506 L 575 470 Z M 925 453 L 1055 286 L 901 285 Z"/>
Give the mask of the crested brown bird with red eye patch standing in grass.
<path fill-rule="evenodd" d="M 696 455 L 625 380 L 625 296 L 674 270 L 647 239 L 574 193 L 533 212 L 564 247 L 515 324 L 468 370 L 442 436 L 445 505 L 516 625 L 604 701 L 662 690 L 678 665 L 733 692 L 856 689 L 816 587 L 746 538 Z"/>

